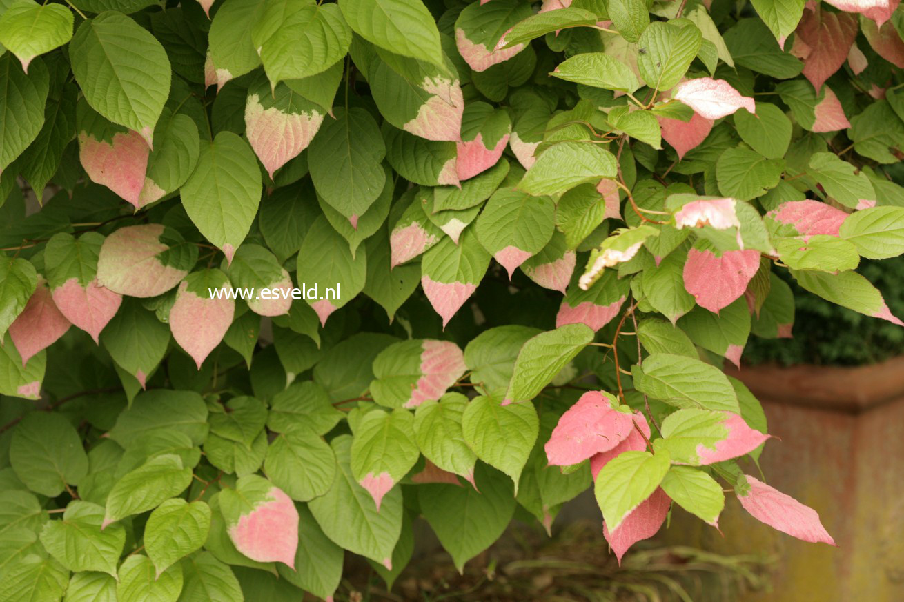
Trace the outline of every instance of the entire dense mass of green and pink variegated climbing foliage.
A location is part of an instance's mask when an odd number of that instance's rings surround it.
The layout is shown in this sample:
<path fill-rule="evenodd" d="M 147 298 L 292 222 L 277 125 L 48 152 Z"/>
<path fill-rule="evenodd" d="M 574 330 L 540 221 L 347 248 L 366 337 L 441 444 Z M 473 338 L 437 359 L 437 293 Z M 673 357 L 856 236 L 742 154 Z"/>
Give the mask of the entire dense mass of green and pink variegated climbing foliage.
<path fill-rule="evenodd" d="M 791 333 L 789 278 L 901 325 L 856 270 L 904 251 L 902 29 L 0 0 L 0 600 L 328 599 L 419 516 L 461 568 L 591 486 L 619 560 L 726 491 L 832 543 L 744 474 L 720 368 Z"/>

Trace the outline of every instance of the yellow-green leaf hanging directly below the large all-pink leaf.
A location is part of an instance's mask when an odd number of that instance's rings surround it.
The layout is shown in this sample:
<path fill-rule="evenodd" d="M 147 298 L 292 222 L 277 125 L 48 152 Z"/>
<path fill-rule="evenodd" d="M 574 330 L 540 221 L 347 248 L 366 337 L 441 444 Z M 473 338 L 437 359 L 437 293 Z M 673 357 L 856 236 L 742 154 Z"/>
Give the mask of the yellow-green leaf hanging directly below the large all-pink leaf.
<path fill-rule="evenodd" d="M 594 493 L 609 532 L 645 501 L 669 470 L 669 453 L 627 451 L 609 461 L 597 475 Z"/>

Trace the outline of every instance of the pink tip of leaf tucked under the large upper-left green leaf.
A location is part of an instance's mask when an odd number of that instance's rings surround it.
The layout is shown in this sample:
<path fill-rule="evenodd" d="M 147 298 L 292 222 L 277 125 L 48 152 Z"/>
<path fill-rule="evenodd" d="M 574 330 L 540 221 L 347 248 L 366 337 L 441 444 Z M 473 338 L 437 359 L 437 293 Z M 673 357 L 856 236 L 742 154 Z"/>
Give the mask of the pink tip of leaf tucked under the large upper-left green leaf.
<path fill-rule="evenodd" d="M 111 142 L 86 132 L 79 135 L 79 158 L 91 181 L 107 186 L 136 209 L 141 208 L 148 155 L 146 140 L 132 130 L 114 134 Z"/>

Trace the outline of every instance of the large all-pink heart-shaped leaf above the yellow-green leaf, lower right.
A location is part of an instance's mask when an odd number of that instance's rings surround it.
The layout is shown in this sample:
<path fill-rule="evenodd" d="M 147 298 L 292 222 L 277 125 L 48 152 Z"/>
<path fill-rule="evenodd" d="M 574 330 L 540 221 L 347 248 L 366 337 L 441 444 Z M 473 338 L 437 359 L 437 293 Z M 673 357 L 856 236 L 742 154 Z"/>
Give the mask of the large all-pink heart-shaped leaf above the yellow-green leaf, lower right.
<path fill-rule="evenodd" d="M 551 466 L 571 466 L 616 447 L 633 428 L 631 414 L 613 409 L 607 396 L 591 390 L 562 414 L 543 448 Z"/>

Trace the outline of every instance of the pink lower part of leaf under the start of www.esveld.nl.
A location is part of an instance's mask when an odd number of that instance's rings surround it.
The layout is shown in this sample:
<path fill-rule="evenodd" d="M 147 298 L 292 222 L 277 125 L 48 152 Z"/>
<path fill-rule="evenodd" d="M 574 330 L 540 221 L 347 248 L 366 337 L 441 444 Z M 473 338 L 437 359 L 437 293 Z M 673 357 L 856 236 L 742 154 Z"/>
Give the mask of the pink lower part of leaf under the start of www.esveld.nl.
<path fill-rule="evenodd" d="M 201 370 L 204 359 L 222 341 L 232 324 L 235 301 L 225 298 L 207 298 L 187 290 L 183 281 L 170 309 L 170 330 L 176 343 L 192 356 Z"/>

